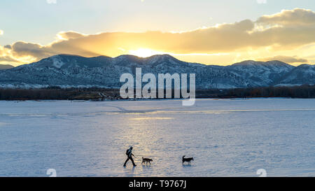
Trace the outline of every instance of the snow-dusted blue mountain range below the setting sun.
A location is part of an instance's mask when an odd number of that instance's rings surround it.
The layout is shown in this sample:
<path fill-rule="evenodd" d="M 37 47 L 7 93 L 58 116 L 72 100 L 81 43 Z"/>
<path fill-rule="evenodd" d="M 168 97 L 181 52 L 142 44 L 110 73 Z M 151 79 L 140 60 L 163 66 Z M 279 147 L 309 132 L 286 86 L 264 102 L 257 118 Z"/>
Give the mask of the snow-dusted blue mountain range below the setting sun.
<path fill-rule="evenodd" d="M 39 62 L 0 70 L 0 87 L 111 87 L 120 88 L 122 73 L 195 73 L 196 88 L 264 87 L 315 84 L 315 66 L 284 62 L 244 61 L 230 66 L 182 62 L 170 55 L 141 58 L 55 55 Z"/>

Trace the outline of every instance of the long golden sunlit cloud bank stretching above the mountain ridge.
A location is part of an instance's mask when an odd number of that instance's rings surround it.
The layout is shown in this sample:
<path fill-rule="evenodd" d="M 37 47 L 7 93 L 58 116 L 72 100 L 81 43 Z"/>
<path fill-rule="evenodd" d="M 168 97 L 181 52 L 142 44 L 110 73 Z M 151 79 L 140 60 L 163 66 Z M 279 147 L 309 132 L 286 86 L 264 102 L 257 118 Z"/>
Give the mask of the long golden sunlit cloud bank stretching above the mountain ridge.
<path fill-rule="evenodd" d="M 62 31 L 57 34 L 57 41 L 48 45 L 18 41 L 4 48 L 7 49 L 6 54 L 18 60 L 25 60 L 26 57 L 38 60 L 56 54 L 115 57 L 141 48 L 172 52 L 174 55 L 232 53 L 237 57 L 241 52 L 267 50 L 268 54 L 260 57 L 272 58 L 274 54 L 283 55 L 277 53 L 279 51 L 294 51 L 303 45 L 315 43 L 314 34 L 315 13 L 295 8 L 282 10 L 274 15 L 262 15 L 255 21 L 242 20 L 190 31 L 99 34 Z M 248 53 L 247 55 L 250 56 Z M 288 60 L 288 57 L 281 59 Z"/>

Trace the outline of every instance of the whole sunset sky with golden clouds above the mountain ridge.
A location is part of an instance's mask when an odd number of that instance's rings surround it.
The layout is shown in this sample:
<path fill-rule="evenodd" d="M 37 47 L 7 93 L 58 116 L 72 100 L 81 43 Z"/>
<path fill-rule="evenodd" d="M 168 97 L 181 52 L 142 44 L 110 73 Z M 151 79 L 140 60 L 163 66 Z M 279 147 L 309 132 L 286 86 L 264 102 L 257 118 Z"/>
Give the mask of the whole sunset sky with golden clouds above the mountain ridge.
<path fill-rule="evenodd" d="M 314 11 L 309 0 L 1 0 L 0 64 L 57 54 L 315 64 Z"/>

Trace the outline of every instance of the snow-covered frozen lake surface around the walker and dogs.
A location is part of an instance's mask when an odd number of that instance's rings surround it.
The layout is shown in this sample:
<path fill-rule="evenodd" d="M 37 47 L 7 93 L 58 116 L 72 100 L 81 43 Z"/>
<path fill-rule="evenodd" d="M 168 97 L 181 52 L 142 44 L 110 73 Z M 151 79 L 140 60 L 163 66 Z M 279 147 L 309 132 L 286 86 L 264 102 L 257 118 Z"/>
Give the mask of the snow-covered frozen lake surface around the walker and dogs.
<path fill-rule="evenodd" d="M 315 176 L 315 99 L 181 103 L 0 101 L 0 176 Z"/>

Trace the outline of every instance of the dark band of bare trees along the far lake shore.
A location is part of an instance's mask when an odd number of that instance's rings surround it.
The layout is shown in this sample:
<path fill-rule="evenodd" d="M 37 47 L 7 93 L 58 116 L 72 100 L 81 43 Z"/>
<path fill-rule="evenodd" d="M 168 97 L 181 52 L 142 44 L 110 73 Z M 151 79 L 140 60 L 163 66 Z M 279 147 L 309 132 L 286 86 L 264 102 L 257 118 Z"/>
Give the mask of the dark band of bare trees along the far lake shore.
<path fill-rule="evenodd" d="M 174 90 L 172 95 L 174 98 Z M 196 90 L 196 98 L 230 99 L 255 97 L 315 98 L 315 85 Z M 34 89 L 0 88 L 0 100 L 105 101 L 118 99 L 122 99 L 119 89 L 99 87 L 61 88 L 54 86 Z"/>

